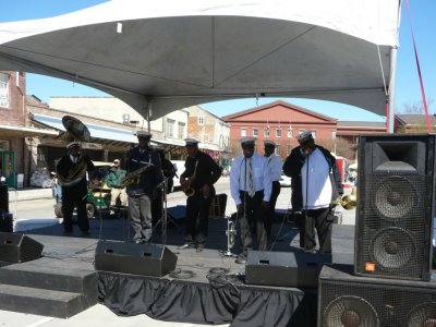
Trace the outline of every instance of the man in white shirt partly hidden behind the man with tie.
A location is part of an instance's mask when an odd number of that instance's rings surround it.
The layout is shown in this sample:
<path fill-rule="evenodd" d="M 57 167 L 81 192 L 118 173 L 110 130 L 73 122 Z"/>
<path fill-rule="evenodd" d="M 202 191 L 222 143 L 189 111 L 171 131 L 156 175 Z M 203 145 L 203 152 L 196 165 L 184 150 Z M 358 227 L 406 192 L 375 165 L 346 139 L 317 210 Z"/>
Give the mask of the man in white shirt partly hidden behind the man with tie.
<path fill-rule="evenodd" d="M 276 143 L 271 140 L 265 140 L 264 141 L 264 156 L 268 161 L 268 170 L 269 170 L 269 175 L 271 178 L 272 184 L 271 184 L 271 197 L 269 198 L 269 207 L 266 210 L 266 219 L 265 219 L 265 230 L 266 234 L 269 238 L 271 234 L 271 227 L 274 223 L 275 219 L 275 214 L 276 214 L 276 203 L 277 203 L 277 197 L 280 194 L 280 177 L 281 177 L 281 168 L 282 168 L 282 162 L 280 157 L 276 156 L 275 149 L 276 149 Z"/>

